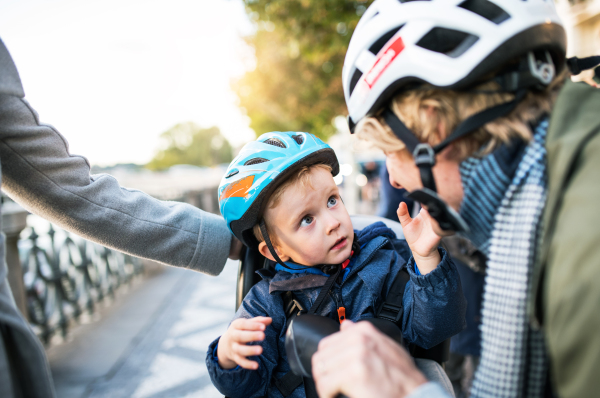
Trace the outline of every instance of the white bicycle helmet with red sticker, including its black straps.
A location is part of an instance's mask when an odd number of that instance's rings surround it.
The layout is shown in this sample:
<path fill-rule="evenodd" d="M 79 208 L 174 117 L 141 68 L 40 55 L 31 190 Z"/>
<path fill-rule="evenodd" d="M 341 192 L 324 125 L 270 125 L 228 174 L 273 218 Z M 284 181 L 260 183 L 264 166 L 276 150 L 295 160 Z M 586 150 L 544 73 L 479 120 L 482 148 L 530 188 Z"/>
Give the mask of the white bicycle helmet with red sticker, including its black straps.
<path fill-rule="evenodd" d="M 437 194 L 436 154 L 511 112 L 528 90 L 549 85 L 564 68 L 565 55 L 565 31 L 552 0 L 376 0 L 354 31 L 342 71 L 350 131 L 383 110 L 420 170 L 423 188 L 407 197 L 427 206 L 443 230 L 467 232 L 465 221 Z M 470 116 L 433 147 L 419 142 L 387 106 L 398 90 L 423 83 L 467 90 L 489 80 L 515 98 Z"/>

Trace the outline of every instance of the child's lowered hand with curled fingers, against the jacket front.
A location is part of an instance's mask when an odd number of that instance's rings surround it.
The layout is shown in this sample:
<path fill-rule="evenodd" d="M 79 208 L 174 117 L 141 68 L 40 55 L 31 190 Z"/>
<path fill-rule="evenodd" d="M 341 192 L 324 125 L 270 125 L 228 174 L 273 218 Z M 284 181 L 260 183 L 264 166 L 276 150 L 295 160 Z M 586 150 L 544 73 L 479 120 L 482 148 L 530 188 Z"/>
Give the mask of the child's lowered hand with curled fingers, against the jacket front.
<path fill-rule="evenodd" d="M 273 319 L 257 316 L 252 319 L 238 318 L 231 322 L 229 328 L 221 336 L 217 347 L 219 365 L 223 369 L 232 369 L 240 365 L 244 369 L 258 369 L 258 363 L 250 361 L 246 357 L 262 354 L 259 345 L 247 345 L 252 341 L 263 341 L 264 330 Z"/>

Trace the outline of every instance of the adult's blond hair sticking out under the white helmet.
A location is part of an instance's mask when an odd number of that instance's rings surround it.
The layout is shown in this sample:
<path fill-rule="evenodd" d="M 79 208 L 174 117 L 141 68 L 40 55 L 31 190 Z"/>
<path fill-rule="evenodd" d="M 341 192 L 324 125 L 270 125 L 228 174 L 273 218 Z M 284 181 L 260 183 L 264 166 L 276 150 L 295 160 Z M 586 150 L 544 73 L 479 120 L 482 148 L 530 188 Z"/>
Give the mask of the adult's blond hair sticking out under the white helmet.
<path fill-rule="evenodd" d="M 525 99 L 508 115 L 455 141 L 451 146 L 450 156 L 463 160 L 480 149 L 479 154 L 484 155 L 515 137 L 530 141 L 531 124 L 542 115 L 550 113 L 565 76 L 565 73 L 559 75 L 544 91 L 529 91 Z M 469 116 L 514 98 L 514 94 L 498 90 L 499 86 L 494 82 L 482 84 L 472 91 L 461 92 L 424 86 L 397 94 L 392 99 L 391 109 L 415 133 L 419 141 L 435 145 Z M 359 138 L 386 153 L 405 150 L 404 143 L 394 135 L 380 115 L 363 118 L 356 126 L 356 133 Z"/>

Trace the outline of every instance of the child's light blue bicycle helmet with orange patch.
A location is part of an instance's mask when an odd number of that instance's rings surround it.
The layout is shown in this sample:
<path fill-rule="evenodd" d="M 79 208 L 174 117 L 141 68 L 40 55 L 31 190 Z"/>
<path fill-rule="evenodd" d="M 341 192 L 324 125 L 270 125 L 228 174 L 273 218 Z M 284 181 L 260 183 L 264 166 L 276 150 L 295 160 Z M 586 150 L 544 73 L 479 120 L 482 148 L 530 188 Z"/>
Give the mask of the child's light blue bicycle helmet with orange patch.
<path fill-rule="evenodd" d="M 266 199 L 295 170 L 317 163 L 331 166 L 334 176 L 339 172 L 333 149 L 309 133 L 266 133 L 244 145 L 219 184 L 219 208 L 229 230 L 256 248 L 252 228 L 262 219 Z"/>

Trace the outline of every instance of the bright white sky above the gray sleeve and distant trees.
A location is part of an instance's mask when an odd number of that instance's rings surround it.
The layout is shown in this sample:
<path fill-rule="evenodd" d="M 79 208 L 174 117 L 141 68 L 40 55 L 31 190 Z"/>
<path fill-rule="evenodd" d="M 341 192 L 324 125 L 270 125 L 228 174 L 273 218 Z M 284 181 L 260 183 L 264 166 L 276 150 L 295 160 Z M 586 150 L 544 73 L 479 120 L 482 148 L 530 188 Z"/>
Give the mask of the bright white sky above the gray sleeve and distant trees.
<path fill-rule="evenodd" d="M 253 68 L 241 0 L 2 0 L 0 37 L 43 123 L 90 163 L 146 163 L 177 123 L 254 138 L 231 79 Z"/>

